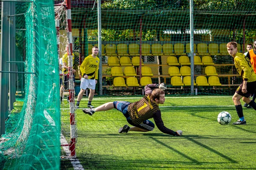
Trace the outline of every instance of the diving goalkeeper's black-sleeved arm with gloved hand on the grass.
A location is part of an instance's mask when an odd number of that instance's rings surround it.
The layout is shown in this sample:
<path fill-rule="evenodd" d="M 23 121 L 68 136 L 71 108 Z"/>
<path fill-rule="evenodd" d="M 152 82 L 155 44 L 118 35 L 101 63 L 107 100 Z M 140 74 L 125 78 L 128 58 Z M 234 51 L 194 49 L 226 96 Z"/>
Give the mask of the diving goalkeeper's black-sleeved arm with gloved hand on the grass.
<path fill-rule="evenodd" d="M 161 132 L 169 134 L 169 135 L 173 135 L 173 136 L 181 136 L 182 135 L 181 130 L 178 130 L 177 132 L 175 132 L 175 131 L 165 127 L 165 125 L 163 124 L 162 117 L 161 117 L 161 111 L 157 111 L 156 113 L 154 113 L 153 118 L 154 118 L 155 124 L 157 125 L 157 128 Z"/>

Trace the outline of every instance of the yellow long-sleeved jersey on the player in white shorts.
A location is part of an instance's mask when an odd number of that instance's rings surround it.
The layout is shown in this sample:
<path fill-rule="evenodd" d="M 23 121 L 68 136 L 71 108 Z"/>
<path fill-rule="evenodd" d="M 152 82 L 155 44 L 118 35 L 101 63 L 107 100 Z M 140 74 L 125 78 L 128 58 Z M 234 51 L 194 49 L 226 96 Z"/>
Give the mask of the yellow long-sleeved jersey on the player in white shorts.
<path fill-rule="evenodd" d="M 99 57 L 94 58 L 92 55 L 85 57 L 84 61 L 80 65 L 82 77 L 86 74 L 88 79 L 98 79 L 98 70 Z"/>

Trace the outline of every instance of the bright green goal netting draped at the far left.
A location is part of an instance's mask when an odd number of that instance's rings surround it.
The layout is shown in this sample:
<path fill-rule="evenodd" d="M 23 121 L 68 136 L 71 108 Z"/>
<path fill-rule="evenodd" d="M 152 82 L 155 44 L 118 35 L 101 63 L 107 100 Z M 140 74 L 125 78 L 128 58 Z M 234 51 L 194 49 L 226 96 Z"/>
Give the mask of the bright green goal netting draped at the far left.
<path fill-rule="evenodd" d="M 16 17 L 16 60 L 25 61 L 17 65 L 17 71 L 34 74 L 17 79 L 17 91 L 24 91 L 23 107 L 6 120 L 0 169 L 56 170 L 60 166 L 60 106 L 53 2 L 16 2 L 15 12 L 25 13 Z"/>

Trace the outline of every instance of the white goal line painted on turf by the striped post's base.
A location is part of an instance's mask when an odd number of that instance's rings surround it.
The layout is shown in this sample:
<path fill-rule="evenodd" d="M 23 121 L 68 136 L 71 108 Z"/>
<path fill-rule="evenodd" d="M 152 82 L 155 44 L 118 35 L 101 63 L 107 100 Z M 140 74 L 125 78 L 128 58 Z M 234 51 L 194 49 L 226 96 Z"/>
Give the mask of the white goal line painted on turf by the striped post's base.
<path fill-rule="evenodd" d="M 44 116 L 47 118 L 47 120 L 49 121 L 49 123 L 50 123 L 52 126 L 55 126 L 54 120 L 52 119 L 52 117 L 49 115 L 49 113 L 48 113 L 46 110 L 44 110 Z M 68 144 L 68 143 L 67 143 L 67 140 L 65 139 L 65 137 L 63 136 L 62 133 L 60 134 L 60 141 L 61 141 L 61 144 Z M 63 147 L 63 150 L 65 151 L 65 153 L 66 153 L 67 156 L 70 156 L 70 155 L 71 155 L 68 146 L 64 146 L 64 147 Z M 70 161 L 71 161 L 71 164 L 72 164 L 73 167 L 74 167 L 74 170 L 84 170 L 83 166 L 80 164 L 80 161 L 79 161 L 78 159 L 71 157 L 71 158 L 70 158 Z"/>

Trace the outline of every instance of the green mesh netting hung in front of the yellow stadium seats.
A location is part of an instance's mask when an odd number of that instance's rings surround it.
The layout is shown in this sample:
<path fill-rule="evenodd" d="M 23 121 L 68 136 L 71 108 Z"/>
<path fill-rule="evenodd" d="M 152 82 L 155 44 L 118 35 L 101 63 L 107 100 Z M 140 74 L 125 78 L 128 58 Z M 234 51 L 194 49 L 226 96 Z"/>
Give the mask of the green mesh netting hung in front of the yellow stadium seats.
<path fill-rule="evenodd" d="M 252 5 L 248 6 L 247 4 Z M 236 41 L 239 43 L 239 52 L 244 53 L 246 44 L 252 43 L 255 38 L 252 20 L 256 14 L 253 1 L 194 0 L 193 7 L 194 52 L 196 56 L 194 92 L 197 94 L 233 94 L 242 79 L 236 72 L 232 57 L 227 54 L 226 44 Z M 186 83 L 189 78 L 185 78 L 189 76 L 189 73 L 169 73 L 172 72 L 172 69 L 183 72 L 187 70 L 187 67 L 190 68 L 189 9 L 189 1 L 184 0 L 102 1 L 103 94 L 120 94 L 119 92 L 122 92 L 121 94 L 141 94 L 143 88 L 141 77 L 150 77 L 153 83 L 166 82 L 169 86 L 167 94 L 190 94 L 190 85 Z M 91 53 L 92 46 L 98 45 L 97 3 L 94 0 L 72 2 L 72 27 L 74 51 L 79 53 L 82 62 L 84 57 Z M 140 55 L 143 66 L 149 67 L 153 76 L 152 74 L 148 74 L 149 76 L 141 74 L 143 69 L 132 63 L 133 58 Z M 129 62 L 126 57 L 130 59 L 131 63 L 121 64 L 120 62 L 124 60 Z M 176 62 L 176 59 L 177 65 L 173 63 Z M 184 64 L 181 61 L 184 59 L 189 59 L 189 62 Z M 209 59 L 213 64 L 206 63 Z M 111 62 L 117 63 L 111 65 L 109 64 Z M 79 65 L 78 60 L 76 65 Z M 111 74 L 111 69 L 114 66 L 121 67 L 123 76 Z M 125 68 L 128 66 L 135 69 L 136 76 L 125 74 Z M 216 73 L 208 74 L 208 70 L 216 71 Z M 209 86 L 205 86 L 200 80 L 204 77 L 199 76 L 204 76 Z M 210 76 L 216 77 L 210 78 Z M 125 87 L 117 87 L 121 86 L 120 84 L 114 85 L 116 77 L 124 78 L 121 80 L 124 80 Z M 128 77 L 137 79 L 137 82 L 134 79 L 135 83 L 131 83 L 131 87 L 127 83 Z M 199 77 L 198 80 L 197 77 Z M 76 74 L 76 79 L 79 80 L 78 74 Z M 119 80 L 116 79 L 115 82 L 120 82 Z M 177 83 L 177 81 L 181 82 Z M 136 87 L 138 84 L 139 86 Z M 96 90 L 96 93 L 99 93 L 99 90 Z"/>

